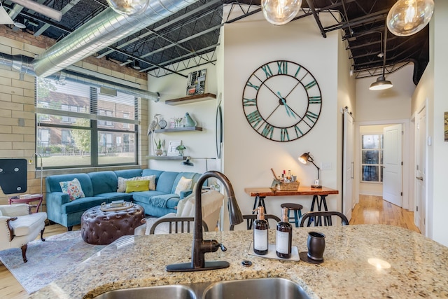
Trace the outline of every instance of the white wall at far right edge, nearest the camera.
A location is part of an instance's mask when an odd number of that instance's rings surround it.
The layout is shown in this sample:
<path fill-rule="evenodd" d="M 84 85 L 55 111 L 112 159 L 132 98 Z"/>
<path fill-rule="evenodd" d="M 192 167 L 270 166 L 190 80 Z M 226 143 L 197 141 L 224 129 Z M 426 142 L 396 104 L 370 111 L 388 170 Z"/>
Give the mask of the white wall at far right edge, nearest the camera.
<path fill-rule="evenodd" d="M 427 217 L 428 237 L 448 246 L 446 212 L 448 200 L 446 189 L 448 167 L 448 143 L 444 141 L 444 112 L 448 111 L 448 2 L 435 2 L 430 22 L 430 62 L 412 98 L 412 109 L 428 101 L 428 137 L 432 144 L 427 147 Z"/>

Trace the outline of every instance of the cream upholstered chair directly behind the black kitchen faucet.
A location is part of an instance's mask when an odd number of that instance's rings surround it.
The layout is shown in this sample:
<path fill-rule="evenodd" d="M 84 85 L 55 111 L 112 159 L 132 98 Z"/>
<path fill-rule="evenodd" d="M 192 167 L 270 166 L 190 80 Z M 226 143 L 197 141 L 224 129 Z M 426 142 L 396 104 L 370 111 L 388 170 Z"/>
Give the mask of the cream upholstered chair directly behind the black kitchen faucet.
<path fill-rule="evenodd" d="M 215 190 L 202 193 L 202 226 L 204 231 L 214 231 L 218 223 L 224 195 Z M 160 235 L 175 232 L 193 232 L 195 221 L 195 194 L 179 201 L 177 213 L 160 218 L 147 218 L 134 230 L 134 235 Z M 186 225 L 186 226 L 185 226 Z"/>

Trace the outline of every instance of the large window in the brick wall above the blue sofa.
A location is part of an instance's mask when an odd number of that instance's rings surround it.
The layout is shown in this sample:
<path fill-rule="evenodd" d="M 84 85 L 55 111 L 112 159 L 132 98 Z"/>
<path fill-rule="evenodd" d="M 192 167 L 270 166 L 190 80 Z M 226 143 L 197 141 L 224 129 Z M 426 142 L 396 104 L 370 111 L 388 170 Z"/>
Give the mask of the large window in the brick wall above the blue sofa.
<path fill-rule="evenodd" d="M 137 164 L 138 98 L 36 78 L 36 148 L 44 168 Z"/>

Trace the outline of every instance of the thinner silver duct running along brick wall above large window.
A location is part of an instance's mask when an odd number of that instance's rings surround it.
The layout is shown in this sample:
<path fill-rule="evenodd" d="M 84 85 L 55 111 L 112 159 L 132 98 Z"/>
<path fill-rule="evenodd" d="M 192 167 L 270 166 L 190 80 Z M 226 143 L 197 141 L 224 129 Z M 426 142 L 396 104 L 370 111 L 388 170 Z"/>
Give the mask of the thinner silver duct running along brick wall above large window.
<path fill-rule="evenodd" d="M 36 76 L 33 69 L 32 58 L 24 55 L 8 55 L 0 53 L 0 65 L 9 67 L 11 71 L 18 71 L 20 74 L 27 74 L 29 76 Z M 103 78 L 92 78 L 85 74 L 80 74 L 75 71 L 58 71 L 47 78 L 56 81 L 73 81 L 78 83 L 87 83 L 95 87 L 107 87 L 120 90 L 128 95 L 142 97 L 144 99 L 152 99 L 154 102 L 159 102 L 160 95 L 158 92 L 150 92 L 146 90 L 139 90 L 124 84 L 112 82 Z"/>

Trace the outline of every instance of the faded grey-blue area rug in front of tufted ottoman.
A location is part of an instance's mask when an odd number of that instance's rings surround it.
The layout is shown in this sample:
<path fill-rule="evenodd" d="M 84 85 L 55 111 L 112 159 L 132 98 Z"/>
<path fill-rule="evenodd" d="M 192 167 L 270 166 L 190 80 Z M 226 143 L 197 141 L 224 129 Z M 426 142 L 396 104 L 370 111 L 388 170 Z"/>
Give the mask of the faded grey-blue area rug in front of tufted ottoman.
<path fill-rule="evenodd" d="M 0 251 L 0 260 L 25 291 L 34 293 L 51 281 L 71 271 L 105 245 L 87 244 L 80 230 L 64 232 L 28 243 L 28 262 L 23 263 L 20 249 Z"/>

